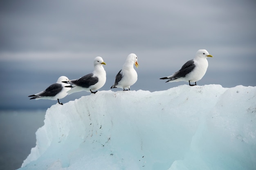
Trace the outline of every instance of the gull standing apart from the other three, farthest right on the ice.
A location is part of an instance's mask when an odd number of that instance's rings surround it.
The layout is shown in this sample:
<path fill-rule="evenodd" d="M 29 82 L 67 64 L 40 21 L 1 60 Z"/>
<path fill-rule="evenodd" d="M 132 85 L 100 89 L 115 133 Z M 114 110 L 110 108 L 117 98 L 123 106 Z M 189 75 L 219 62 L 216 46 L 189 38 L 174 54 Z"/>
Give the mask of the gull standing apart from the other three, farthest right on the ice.
<path fill-rule="evenodd" d="M 160 79 L 169 79 L 167 82 L 189 82 L 189 86 L 195 86 L 196 82 L 202 77 L 207 71 L 208 61 L 207 57 L 213 57 L 209 55 L 206 50 L 198 50 L 195 54 L 193 60 L 187 61 L 179 71 L 173 73 L 168 77 L 162 77 Z M 195 84 L 190 84 L 190 82 L 195 82 Z"/>

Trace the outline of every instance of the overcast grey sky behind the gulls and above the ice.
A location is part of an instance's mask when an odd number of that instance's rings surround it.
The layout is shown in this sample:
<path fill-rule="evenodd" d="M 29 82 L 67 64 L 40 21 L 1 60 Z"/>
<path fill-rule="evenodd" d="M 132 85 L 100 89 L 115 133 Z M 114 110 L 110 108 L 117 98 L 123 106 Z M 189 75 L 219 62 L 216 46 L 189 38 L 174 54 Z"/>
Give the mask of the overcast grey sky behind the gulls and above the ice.
<path fill-rule="evenodd" d="M 50 107 L 56 102 L 27 96 L 61 75 L 91 73 L 96 56 L 107 64 L 100 90 L 110 90 L 130 53 L 139 63 L 131 90 L 188 84 L 159 78 L 179 70 L 199 49 L 213 58 L 198 85 L 256 86 L 255 9 L 255 0 L 0 1 L 0 109 Z M 90 93 L 61 102 L 82 95 Z"/>

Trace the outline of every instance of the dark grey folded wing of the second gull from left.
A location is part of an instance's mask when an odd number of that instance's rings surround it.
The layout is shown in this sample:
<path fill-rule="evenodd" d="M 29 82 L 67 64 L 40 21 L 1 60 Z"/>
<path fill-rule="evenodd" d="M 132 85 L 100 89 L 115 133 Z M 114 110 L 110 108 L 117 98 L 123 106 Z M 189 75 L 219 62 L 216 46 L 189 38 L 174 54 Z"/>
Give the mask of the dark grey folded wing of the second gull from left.
<path fill-rule="evenodd" d="M 99 80 L 98 77 L 92 77 L 92 76 L 93 76 L 93 73 L 90 73 L 88 75 L 81 77 L 80 79 L 71 80 L 71 83 L 83 88 L 89 88 L 90 86 L 96 84 Z"/>

